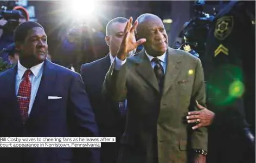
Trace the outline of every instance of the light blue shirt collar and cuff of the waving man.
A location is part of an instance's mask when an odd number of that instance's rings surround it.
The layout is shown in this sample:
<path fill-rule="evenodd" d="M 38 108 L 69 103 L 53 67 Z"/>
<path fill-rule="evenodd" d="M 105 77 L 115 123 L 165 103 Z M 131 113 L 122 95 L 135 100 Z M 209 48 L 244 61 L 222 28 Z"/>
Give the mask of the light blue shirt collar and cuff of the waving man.
<path fill-rule="evenodd" d="M 145 50 L 145 53 L 146 53 L 146 50 Z M 154 68 L 156 66 L 156 63 L 155 62 L 151 62 L 153 60 L 153 56 L 149 55 L 148 53 L 146 53 L 146 56 L 149 58 L 149 61 L 151 63 L 151 67 Z M 161 56 L 157 56 L 157 58 L 161 61 L 161 65 L 164 69 L 164 74 L 165 74 L 165 71 L 166 71 L 166 66 L 167 66 L 167 55 L 166 55 L 166 52 L 161 55 Z M 118 57 L 115 57 L 115 61 L 116 61 L 116 64 L 115 64 L 115 67 L 114 69 L 116 70 L 120 70 L 121 66 L 126 62 L 126 58 L 124 61 L 122 60 L 119 60 Z"/>

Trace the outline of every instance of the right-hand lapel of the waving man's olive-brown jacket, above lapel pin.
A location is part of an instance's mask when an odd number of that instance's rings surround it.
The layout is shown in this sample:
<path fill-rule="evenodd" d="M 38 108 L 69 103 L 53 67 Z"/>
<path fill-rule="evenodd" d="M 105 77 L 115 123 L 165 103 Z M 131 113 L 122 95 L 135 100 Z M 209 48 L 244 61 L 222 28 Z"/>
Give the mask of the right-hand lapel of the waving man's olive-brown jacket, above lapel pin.
<path fill-rule="evenodd" d="M 168 48 L 167 55 L 167 69 L 164 77 L 163 94 L 167 93 L 178 73 L 180 73 L 181 57 L 175 55 L 174 50 L 171 48 Z"/>

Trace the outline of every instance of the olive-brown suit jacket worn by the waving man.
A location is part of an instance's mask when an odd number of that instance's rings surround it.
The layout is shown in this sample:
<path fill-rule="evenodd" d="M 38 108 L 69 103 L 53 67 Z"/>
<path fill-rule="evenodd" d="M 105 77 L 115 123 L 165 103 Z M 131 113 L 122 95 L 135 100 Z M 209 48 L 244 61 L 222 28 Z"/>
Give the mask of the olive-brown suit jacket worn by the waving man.
<path fill-rule="evenodd" d="M 201 62 L 171 48 L 167 57 L 162 96 L 144 49 L 127 58 L 120 70 L 113 62 L 106 75 L 104 93 L 116 101 L 127 99 L 129 107 L 118 162 L 184 163 L 189 149 L 207 151 L 207 129 L 192 131 L 184 119 L 190 110 L 198 110 L 195 100 L 205 103 Z"/>

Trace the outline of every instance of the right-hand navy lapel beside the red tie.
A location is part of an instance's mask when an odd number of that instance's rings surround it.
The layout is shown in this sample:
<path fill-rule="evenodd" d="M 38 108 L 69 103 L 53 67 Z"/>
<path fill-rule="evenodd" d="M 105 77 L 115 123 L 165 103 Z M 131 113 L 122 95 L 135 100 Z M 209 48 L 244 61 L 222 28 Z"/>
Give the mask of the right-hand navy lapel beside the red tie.
<path fill-rule="evenodd" d="M 44 67 L 43 67 L 43 74 L 40 81 L 39 88 L 36 93 L 35 101 L 33 104 L 33 107 L 31 109 L 31 113 L 29 115 L 28 123 L 29 121 L 33 121 L 32 119 L 38 118 L 37 115 L 40 115 L 43 113 L 43 110 L 47 105 L 48 100 L 48 92 L 50 90 L 54 89 L 55 82 L 56 82 L 56 72 L 53 67 L 53 63 L 46 60 L 44 61 Z"/>

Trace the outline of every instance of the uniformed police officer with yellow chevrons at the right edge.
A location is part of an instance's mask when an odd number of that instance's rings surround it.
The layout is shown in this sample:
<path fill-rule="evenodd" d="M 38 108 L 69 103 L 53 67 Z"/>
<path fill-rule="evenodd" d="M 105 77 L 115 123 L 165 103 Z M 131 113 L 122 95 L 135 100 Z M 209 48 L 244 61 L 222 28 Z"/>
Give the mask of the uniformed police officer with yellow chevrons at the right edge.
<path fill-rule="evenodd" d="M 255 162 L 255 1 L 231 1 L 216 15 L 202 63 L 215 113 L 208 162 Z"/>

